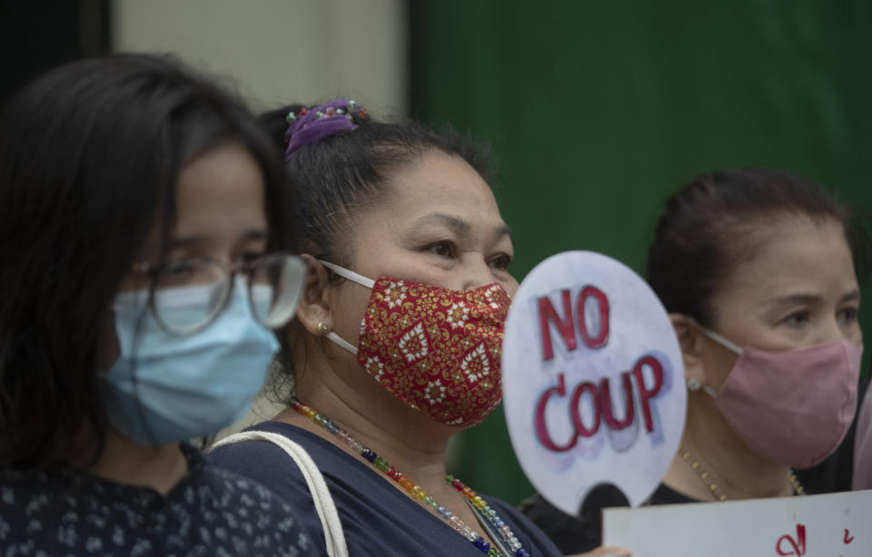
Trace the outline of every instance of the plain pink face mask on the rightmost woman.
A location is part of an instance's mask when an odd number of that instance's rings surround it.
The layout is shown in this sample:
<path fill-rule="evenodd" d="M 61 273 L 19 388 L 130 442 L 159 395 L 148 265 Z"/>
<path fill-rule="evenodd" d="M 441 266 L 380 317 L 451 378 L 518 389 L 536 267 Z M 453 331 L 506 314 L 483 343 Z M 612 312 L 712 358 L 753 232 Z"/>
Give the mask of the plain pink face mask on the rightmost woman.
<path fill-rule="evenodd" d="M 793 468 L 833 454 L 857 409 L 862 345 L 837 340 L 782 352 L 743 349 L 695 325 L 738 354 L 717 393 L 703 388 L 751 449 Z"/>

